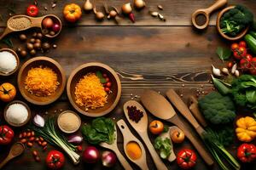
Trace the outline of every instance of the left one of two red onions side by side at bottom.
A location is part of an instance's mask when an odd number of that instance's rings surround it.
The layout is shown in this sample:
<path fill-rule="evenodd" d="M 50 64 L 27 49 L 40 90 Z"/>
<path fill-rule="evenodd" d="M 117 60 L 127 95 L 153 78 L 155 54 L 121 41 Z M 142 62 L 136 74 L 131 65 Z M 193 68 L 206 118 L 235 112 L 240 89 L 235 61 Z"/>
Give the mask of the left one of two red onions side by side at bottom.
<path fill-rule="evenodd" d="M 94 146 L 88 146 L 83 153 L 83 159 L 86 163 L 96 163 L 100 159 L 100 152 Z"/>

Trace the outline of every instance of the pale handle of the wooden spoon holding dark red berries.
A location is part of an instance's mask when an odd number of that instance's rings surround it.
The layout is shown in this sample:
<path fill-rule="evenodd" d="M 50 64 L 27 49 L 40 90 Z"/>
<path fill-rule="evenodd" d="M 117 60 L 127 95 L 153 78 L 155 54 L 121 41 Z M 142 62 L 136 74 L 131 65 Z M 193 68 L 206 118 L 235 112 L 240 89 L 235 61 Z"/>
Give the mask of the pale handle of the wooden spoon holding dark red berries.
<path fill-rule="evenodd" d="M 158 170 L 168 170 L 166 165 L 161 160 L 160 156 L 154 150 L 154 146 L 151 144 L 150 140 L 148 139 L 148 133 L 147 132 L 143 132 L 143 133 L 139 133 L 139 135 L 142 137 L 144 143 L 147 145 L 148 151 L 149 151 L 149 153 L 150 153 L 150 155 L 151 155 L 151 157 L 152 157 L 152 159 L 154 161 L 155 167 Z"/>

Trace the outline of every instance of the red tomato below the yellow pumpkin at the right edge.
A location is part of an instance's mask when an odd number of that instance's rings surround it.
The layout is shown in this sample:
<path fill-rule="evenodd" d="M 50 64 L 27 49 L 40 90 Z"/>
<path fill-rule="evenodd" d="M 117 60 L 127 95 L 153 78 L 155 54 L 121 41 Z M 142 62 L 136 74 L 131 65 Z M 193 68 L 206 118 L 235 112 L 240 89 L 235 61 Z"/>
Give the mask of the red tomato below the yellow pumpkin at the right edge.
<path fill-rule="evenodd" d="M 252 162 L 256 159 L 256 146 L 254 144 L 241 144 L 236 155 L 244 163 Z"/>

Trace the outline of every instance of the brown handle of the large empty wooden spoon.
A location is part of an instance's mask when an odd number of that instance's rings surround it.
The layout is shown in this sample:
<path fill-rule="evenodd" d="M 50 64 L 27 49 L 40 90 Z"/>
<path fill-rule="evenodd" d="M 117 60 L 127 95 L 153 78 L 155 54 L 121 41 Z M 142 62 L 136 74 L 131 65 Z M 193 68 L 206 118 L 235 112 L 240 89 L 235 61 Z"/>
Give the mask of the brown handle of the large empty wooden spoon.
<path fill-rule="evenodd" d="M 189 128 L 186 127 L 183 122 L 178 118 L 178 116 L 172 116 L 171 119 L 166 120 L 168 122 L 172 122 L 173 124 L 177 125 L 181 130 L 183 130 L 183 133 L 185 133 L 185 136 L 190 140 L 190 142 L 195 146 L 195 149 L 199 152 L 202 159 L 206 161 L 207 165 L 212 166 L 213 161 L 212 157 L 207 153 L 207 150 L 205 147 L 203 147 L 204 144 L 200 142 L 199 139 L 195 139 L 195 136 L 189 132 Z"/>

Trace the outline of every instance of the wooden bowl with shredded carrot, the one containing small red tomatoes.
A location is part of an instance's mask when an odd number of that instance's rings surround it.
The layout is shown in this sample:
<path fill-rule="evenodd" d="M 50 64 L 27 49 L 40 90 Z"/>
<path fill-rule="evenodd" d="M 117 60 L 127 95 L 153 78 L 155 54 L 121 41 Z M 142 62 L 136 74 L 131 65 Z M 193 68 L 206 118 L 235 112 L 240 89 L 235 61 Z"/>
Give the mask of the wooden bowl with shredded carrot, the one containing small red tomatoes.
<path fill-rule="evenodd" d="M 99 74 L 108 77 L 110 92 L 107 93 L 106 82 L 102 82 Z M 118 105 L 120 96 L 121 82 L 117 73 L 102 63 L 80 65 L 67 80 L 67 97 L 73 108 L 85 116 L 107 115 Z"/>

